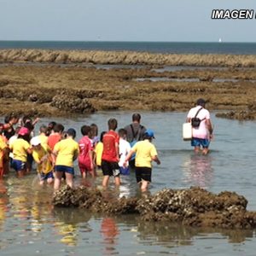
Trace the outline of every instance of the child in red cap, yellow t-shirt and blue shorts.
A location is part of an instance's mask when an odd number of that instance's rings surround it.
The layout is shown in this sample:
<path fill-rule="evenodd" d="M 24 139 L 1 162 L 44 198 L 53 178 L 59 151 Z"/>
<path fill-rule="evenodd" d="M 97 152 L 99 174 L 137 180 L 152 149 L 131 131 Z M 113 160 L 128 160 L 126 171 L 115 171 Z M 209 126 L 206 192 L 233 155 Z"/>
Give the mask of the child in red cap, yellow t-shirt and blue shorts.
<path fill-rule="evenodd" d="M 18 177 L 23 177 L 26 172 L 27 154 L 32 154 L 32 148 L 29 141 L 30 131 L 26 127 L 21 127 L 18 138 L 14 143 L 9 145 L 10 150 L 14 154 L 12 167 L 17 172 Z"/>

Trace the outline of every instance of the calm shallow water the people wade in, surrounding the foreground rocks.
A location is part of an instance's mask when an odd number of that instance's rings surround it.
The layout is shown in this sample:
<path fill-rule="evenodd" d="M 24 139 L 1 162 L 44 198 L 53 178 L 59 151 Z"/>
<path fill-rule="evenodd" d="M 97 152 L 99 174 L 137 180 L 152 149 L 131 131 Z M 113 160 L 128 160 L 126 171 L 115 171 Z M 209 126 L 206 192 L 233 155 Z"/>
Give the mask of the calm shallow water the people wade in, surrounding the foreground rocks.
<path fill-rule="evenodd" d="M 256 211 L 254 137 L 256 122 L 216 119 L 211 153 L 195 155 L 183 142 L 186 113 L 142 113 L 143 125 L 155 131 L 161 165 L 154 166 L 151 193 L 192 185 L 212 192 L 236 191 Z M 96 113 L 84 118 L 57 119 L 66 128 L 96 123 L 107 129 L 114 117 L 119 127 L 131 122 L 129 112 Z M 52 119 L 42 119 L 47 124 Z M 39 124 L 40 125 L 40 124 Z M 38 126 L 39 126 L 38 125 Z M 78 132 L 78 138 L 80 133 Z M 81 180 L 77 170 L 75 183 Z M 102 176 L 97 178 L 100 185 Z M 134 174 L 109 193 L 139 195 Z M 90 181 L 92 183 L 92 181 Z M 136 216 L 91 216 L 79 209 L 51 206 L 52 189 L 39 188 L 35 172 L 18 180 L 11 172 L 0 183 L 0 255 L 255 255 L 253 230 L 216 230 L 180 224 L 142 223 Z"/>

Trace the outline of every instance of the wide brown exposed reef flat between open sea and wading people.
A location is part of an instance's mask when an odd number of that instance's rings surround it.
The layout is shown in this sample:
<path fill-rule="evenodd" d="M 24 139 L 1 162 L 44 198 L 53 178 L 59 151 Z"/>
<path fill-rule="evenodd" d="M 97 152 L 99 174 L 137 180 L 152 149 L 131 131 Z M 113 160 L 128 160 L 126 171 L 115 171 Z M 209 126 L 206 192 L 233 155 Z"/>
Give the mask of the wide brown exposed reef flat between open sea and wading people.
<path fill-rule="evenodd" d="M 204 97 L 209 110 L 221 110 L 219 117 L 256 117 L 253 55 L 136 55 L 133 52 L 10 49 L 0 50 L 0 62 L 2 115 L 18 112 L 68 116 L 97 110 L 187 111 L 198 97 Z M 84 66 L 86 63 L 147 66 L 106 70 Z M 166 65 L 206 68 L 154 71 L 155 67 Z"/>

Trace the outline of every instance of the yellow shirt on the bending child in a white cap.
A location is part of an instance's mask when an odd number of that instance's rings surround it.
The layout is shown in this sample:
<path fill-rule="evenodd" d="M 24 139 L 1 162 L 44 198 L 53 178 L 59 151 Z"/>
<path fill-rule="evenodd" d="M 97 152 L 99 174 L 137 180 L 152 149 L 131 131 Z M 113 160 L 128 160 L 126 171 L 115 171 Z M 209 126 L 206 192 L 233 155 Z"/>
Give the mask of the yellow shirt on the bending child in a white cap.
<path fill-rule="evenodd" d="M 33 149 L 32 156 L 33 159 L 38 163 L 43 160 L 42 163 L 38 164 L 38 173 L 47 174 L 53 170 L 53 166 L 50 160 L 50 148 L 48 145 L 41 146 L 40 149 Z"/>

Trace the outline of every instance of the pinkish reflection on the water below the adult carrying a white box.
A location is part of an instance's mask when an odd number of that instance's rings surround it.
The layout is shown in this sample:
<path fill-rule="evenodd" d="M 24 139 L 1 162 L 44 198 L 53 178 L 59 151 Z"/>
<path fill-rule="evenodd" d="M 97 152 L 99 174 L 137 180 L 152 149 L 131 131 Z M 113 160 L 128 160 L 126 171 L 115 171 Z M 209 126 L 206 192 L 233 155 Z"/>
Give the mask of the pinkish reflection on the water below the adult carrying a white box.
<path fill-rule="evenodd" d="M 190 154 L 183 160 L 183 181 L 207 189 L 212 183 L 212 156 Z"/>

